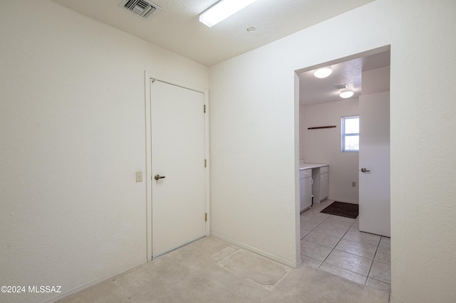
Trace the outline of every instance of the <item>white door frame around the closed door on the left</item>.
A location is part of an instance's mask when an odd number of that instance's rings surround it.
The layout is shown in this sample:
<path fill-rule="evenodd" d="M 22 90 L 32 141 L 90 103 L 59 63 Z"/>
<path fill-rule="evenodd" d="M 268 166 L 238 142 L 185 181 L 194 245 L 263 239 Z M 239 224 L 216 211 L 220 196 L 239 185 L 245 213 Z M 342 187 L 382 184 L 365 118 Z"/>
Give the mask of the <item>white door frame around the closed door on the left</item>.
<path fill-rule="evenodd" d="M 207 213 L 206 221 L 206 235 L 210 233 L 210 159 L 209 159 L 209 93 L 201 87 L 195 87 L 185 83 L 185 81 L 177 80 L 175 78 L 157 75 L 145 70 L 144 73 L 144 87 L 145 87 L 145 223 L 146 223 L 146 260 L 152 260 L 152 113 L 150 104 L 150 89 L 151 80 L 160 80 L 165 83 L 177 85 L 201 92 L 204 95 L 204 106 L 206 113 L 204 114 L 204 159 L 207 159 L 207 166 L 204 170 L 204 206 Z"/>

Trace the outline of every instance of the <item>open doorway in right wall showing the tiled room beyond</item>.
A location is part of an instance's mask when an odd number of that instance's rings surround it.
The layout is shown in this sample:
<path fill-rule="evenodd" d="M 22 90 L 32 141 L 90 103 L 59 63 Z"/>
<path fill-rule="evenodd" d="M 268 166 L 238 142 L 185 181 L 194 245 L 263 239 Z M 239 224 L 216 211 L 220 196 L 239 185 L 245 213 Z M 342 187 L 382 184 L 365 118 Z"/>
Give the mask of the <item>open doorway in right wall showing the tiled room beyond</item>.
<path fill-rule="evenodd" d="M 316 78 L 314 71 L 323 67 L 331 67 L 331 75 Z M 314 200 L 313 206 L 300 216 L 301 260 L 355 282 L 388 290 L 390 46 L 296 70 L 296 75 L 299 78 L 300 168 L 308 167 L 306 164 L 328 165 L 328 199 Z M 353 91 L 353 96 L 341 98 L 343 90 Z M 379 107 L 373 107 L 374 102 Z M 359 152 L 343 151 L 342 118 L 357 115 Z M 370 124 L 375 124 L 374 129 L 385 126 L 383 133 L 376 134 L 372 129 L 371 133 L 366 132 Z M 363 141 L 366 138 L 371 139 Z M 368 149 L 368 144 L 373 150 Z M 366 151 L 367 158 L 362 156 Z M 369 156 L 373 162 L 368 161 Z M 378 161 L 380 158 L 384 161 Z M 375 162 L 381 163 L 380 167 L 375 166 Z M 371 171 L 366 173 L 361 168 Z M 316 174 L 312 176 L 316 179 Z M 316 181 L 314 184 L 318 184 Z M 378 192 L 366 195 L 363 188 L 372 192 L 369 186 Z M 384 193 L 380 198 L 383 201 L 378 199 L 378 193 Z M 359 204 L 358 218 L 320 213 L 333 201 Z M 378 204 L 382 206 L 378 208 Z"/>

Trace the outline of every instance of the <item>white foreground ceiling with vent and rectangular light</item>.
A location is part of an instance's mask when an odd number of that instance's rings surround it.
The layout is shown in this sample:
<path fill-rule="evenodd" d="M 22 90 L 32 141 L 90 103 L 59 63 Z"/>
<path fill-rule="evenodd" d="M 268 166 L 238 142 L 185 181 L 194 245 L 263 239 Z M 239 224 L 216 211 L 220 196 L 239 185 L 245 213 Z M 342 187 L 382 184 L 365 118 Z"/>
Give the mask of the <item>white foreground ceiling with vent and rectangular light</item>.
<path fill-rule="evenodd" d="M 257 0 L 212 28 L 198 18 L 218 0 L 152 0 L 162 9 L 148 19 L 119 7 L 121 0 L 53 1 L 210 66 L 373 0 Z"/>

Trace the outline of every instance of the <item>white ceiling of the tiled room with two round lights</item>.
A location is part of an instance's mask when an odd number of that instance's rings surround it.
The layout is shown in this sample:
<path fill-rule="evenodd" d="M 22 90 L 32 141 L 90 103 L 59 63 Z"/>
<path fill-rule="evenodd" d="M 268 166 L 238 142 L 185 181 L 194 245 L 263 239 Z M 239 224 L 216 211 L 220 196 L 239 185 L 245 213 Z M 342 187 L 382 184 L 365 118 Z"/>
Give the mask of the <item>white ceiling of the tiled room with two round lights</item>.
<path fill-rule="evenodd" d="M 299 73 L 299 104 L 313 105 L 342 100 L 339 97 L 340 90 L 335 86 L 343 84 L 348 85 L 348 89 L 355 92 L 349 99 L 356 99 L 361 95 L 361 73 L 389 65 L 390 51 L 388 50 L 332 64 L 333 73 L 328 78 L 314 77 L 315 68 Z"/>

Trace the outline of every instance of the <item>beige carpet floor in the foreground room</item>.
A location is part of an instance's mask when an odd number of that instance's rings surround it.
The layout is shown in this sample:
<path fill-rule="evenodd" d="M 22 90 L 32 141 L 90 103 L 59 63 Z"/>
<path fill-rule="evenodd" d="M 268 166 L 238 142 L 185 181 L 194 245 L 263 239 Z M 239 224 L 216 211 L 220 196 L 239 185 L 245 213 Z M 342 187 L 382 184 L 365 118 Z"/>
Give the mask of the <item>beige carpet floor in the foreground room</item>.
<path fill-rule="evenodd" d="M 389 293 L 207 237 L 59 302 L 375 303 Z"/>

